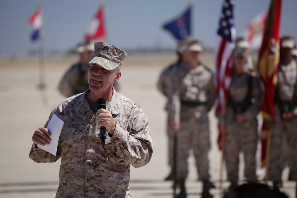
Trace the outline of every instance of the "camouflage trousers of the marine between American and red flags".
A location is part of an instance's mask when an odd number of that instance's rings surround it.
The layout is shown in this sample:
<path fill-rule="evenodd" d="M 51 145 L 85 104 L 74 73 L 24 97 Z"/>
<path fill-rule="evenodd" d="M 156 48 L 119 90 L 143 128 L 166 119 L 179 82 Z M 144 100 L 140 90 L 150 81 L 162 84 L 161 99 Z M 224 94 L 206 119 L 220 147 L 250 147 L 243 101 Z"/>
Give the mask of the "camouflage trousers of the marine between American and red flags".
<path fill-rule="evenodd" d="M 225 137 L 225 160 L 228 180 L 238 181 L 239 152 L 244 153 L 244 176 L 247 181 L 257 181 L 256 150 L 257 120 L 227 125 Z"/>

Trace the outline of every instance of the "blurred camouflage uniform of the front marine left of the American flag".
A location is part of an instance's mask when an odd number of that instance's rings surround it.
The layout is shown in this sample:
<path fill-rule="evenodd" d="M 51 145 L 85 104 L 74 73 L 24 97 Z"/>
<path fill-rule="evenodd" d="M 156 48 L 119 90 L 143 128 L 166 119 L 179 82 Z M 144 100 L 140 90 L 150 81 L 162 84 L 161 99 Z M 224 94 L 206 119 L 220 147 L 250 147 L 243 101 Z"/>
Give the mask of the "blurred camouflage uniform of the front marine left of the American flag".
<path fill-rule="evenodd" d="M 177 132 L 177 178 L 187 177 L 187 158 L 192 148 L 199 180 L 208 180 L 210 139 L 207 113 L 215 99 L 213 74 L 202 64 L 193 69 L 181 64 L 174 70 L 172 84 L 172 119 L 180 121 Z"/>

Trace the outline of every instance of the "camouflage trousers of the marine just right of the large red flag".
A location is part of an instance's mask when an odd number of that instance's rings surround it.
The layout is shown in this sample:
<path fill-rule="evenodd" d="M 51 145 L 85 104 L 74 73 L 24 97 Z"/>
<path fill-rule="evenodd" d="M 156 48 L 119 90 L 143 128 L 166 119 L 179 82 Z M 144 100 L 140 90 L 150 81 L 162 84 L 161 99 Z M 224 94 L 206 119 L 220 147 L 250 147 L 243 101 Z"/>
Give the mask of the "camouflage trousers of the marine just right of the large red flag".
<path fill-rule="evenodd" d="M 280 181 L 282 170 L 290 167 L 292 180 L 297 180 L 297 118 L 282 121 L 275 118 L 271 135 L 268 178 Z"/>

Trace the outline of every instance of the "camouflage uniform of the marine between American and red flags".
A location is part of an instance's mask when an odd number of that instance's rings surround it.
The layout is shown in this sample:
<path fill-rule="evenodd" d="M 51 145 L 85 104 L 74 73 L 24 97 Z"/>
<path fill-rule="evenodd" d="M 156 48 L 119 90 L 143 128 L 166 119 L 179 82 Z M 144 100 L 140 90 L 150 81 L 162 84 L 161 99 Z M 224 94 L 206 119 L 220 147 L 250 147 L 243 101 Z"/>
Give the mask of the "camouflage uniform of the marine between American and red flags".
<path fill-rule="evenodd" d="M 244 175 L 250 182 L 256 177 L 257 128 L 256 116 L 261 110 L 262 90 L 257 77 L 248 73 L 233 74 L 229 87 L 227 110 L 224 115 L 216 112 L 219 124 L 226 126 L 225 161 L 228 180 L 238 181 L 239 152 L 244 153 Z M 246 116 L 238 123 L 235 113 Z"/>

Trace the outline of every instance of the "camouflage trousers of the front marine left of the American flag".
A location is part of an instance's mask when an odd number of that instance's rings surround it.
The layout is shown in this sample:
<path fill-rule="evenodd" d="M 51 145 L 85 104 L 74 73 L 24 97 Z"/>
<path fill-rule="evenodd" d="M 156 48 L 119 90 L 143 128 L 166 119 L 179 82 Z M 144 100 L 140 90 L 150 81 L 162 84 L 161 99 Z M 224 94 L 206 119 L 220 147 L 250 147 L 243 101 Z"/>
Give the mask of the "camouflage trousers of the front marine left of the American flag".
<path fill-rule="evenodd" d="M 186 113 L 186 112 L 183 112 Z M 208 151 L 210 150 L 209 123 L 207 112 L 199 119 L 181 116 L 177 133 L 177 178 L 187 178 L 189 150 L 193 149 L 199 180 L 208 180 Z"/>

